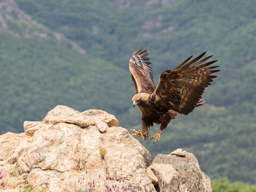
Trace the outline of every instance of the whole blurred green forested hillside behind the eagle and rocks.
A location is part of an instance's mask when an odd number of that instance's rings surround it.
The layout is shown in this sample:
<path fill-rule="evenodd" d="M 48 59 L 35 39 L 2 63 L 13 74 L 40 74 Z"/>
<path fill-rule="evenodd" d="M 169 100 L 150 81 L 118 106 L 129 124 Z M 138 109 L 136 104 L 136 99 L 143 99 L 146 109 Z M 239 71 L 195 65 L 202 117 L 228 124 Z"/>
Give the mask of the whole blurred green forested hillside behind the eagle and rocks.
<path fill-rule="evenodd" d="M 106 110 L 140 129 L 131 54 L 148 50 L 157 84 L 162 71 L 207 51 L 221 69 L 205 91 L 207 106 L 171 121 L 159 143 L 141 142 L 151 154 L 191 151 L 211 179 L 256 183 L 254 0 L 1 4 L 1 134 L 22 132 L 23 121 L 41 121 L 56 105 Z"/>

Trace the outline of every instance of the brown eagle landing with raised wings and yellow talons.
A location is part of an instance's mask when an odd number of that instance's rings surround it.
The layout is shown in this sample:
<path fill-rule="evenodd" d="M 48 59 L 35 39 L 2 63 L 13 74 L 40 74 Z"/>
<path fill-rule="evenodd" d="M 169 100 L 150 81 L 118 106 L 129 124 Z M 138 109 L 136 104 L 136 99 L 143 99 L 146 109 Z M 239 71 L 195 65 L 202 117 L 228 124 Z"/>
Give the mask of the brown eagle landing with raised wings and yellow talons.
<path fill-rule="evenodd" d="M 217 60 L 205 63 L 212 55 L 201 59 L 205 53 L 191 61 L 193 56 L 190 56 L 175 69 L 164 71 L 157 87 L 147 50 L 140 49 L 132 54 L 129 69 L 136 91 L 132 98 L 133 107 L 137 105 L 142 112 L 142 131 L 133 129 L 133 135 L 147 140 L 150 126 L 153 123 L 161 124 L 153 137 L 154 143 L 159 142 L 162 131 L 171 119 L 178 114 L 188 115 L 195 108 L 204 106 L 202 94 L 205 87 L 217 77 L 212 74 L 220 71 L 213 70 L 219 66 L 210 66 Z"/>

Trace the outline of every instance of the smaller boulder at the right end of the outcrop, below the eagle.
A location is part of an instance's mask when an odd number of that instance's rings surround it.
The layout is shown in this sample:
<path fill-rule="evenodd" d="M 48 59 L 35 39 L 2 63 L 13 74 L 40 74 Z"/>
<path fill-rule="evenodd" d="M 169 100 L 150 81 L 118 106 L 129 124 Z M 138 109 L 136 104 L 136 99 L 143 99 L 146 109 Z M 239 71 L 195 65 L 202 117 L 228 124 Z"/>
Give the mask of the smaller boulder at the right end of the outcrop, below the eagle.
<path fill-rule="evenodd" d="M 210 178 L 200 170 L 193 154 L 182 149 L 171 154 L 158 154 L 149 166 L 160 191 L 211 191 Z"/>

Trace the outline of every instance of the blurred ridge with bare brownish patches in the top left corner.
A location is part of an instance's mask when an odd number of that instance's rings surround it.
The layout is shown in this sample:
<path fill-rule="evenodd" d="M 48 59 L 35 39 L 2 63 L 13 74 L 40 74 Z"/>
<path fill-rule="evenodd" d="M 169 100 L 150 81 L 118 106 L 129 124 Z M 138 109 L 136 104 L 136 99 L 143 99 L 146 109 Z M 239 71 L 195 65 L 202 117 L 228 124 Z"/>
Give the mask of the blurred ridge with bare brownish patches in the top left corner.
<path fill-rule="evenodd" d="M 61 33 L 55 32 L 33 20 L 30 15 L 19 9 L 13 0 L 0 2 L 0 31 L 15 37 L 44 38 L 47 41 L 69 47 L 85 54 L 75 42 L 70 41 Z"/>

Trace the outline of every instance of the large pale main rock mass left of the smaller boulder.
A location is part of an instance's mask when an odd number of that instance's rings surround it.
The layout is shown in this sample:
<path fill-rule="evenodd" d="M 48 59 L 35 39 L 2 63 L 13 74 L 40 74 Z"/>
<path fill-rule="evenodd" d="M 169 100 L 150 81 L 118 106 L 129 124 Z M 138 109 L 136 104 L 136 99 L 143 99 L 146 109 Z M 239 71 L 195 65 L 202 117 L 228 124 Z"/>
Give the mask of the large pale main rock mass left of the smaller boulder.
<path fill-rule="evenodd" d="M 130 188 L 146 183 L 148 191 L 155 191 L 146 171 L 153 161 L 149 151 L 126 129 L 114 125 L 118 121 L 105 111 L 79 113 L 57 106 L 43 122 L 26 121 L 26 134 L 0 136 L 0 169 L 6 180 L 15 181 L 12 186 L 29 183 L 38 190 L 75 191 L 89 187 L 94 179 L 101 191 L 106 185 L 122 188 L 129 183 Z M 104 158 L 100 146 L 107 149 Z"/>

